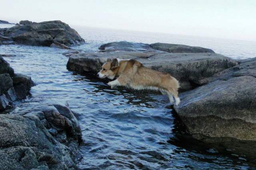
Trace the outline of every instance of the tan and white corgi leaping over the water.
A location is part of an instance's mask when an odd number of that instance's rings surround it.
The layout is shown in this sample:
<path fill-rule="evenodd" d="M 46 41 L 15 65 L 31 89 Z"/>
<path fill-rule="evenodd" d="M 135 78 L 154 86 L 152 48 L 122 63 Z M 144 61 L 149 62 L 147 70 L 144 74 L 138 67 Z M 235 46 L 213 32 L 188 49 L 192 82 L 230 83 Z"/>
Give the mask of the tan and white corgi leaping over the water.
<path fill-rule="evenodd" d="M 116 86 L 126 86 L 136 90 L 150 89 L 159 90 L 162 94 L 166 94 L 173 104 L 180 103 L 178 97 L 179 82 L 176 78 L 168 73 L 158 72 L 143 66 L 140 62 L 129 59 L 110 59 L 102 65 L 102 70 L 98 72 L 99 78 L 109 78 L 113 80 L 108 82 L 111 88 Z"/>

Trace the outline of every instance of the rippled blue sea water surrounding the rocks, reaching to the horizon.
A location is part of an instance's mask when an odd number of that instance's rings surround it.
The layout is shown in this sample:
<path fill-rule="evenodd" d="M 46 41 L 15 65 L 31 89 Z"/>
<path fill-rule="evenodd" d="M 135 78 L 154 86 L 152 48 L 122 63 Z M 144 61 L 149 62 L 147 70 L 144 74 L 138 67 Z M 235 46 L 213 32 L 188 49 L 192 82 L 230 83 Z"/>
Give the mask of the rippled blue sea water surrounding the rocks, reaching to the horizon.
<path fill-rule="evenodd" d="M 0 27 L 10 27 L 0 24 Z M 256 57 L 256 42 L 192 37 L 161 33 L 124 31 L 73 26 L 85 39 L 72 47 L 98 51 L 103 43 L 133 41 L 177 43 L 213 49 L 233 59 Z M 32 77 L 26 100 L 15 102 L 15 109 L 30 103 L 67 101 L 78 113 L 82 145 L 78 167 L 82 169 L 254 169 L 256 162 L 244 155 L 231 154 L 199 141 L 188 139 L 182 123 L 168 106 L 168 98 L 154 91 L 111 89 L 93 74 L 80 75 L 67 70 L 66 50 L 28 45 L 2 45 L 0 54 L 16 73 Z"/>

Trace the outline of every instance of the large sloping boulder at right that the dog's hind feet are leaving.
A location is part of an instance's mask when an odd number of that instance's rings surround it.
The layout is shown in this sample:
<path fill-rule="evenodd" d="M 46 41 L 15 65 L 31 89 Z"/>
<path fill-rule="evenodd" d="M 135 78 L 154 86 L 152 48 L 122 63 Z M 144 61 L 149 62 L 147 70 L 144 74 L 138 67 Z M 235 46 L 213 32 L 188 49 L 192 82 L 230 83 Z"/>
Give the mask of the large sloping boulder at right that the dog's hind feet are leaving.
<path fill-rule="evenodd" d="M 180 94 L 180 105 L 174 107 L 188 132 L 206 143 L 235 145 L 256 158 L 256 58 L 218 72 L 205 83 Z"/>

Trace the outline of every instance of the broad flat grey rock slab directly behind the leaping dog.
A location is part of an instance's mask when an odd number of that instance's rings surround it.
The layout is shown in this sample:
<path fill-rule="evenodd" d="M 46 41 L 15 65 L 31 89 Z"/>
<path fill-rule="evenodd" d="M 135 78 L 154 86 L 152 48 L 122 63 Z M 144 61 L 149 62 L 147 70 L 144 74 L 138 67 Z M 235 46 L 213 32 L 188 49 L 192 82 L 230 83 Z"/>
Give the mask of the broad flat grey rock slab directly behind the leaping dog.
<path fill-rule="evenodd" d="M 147 44 L 126 41 L 107 43 L 99 49 L 98 53 L 70 56 L 67 68 L 80 73 L 96 73 L 107 59 L 136 59 L 153 70 L 170 73 L 180 81 L 180 90 L 189 90 L 205 84 L 206 78 L 237 64 L 216 53 L 167 53 L 151 49 Z"/>

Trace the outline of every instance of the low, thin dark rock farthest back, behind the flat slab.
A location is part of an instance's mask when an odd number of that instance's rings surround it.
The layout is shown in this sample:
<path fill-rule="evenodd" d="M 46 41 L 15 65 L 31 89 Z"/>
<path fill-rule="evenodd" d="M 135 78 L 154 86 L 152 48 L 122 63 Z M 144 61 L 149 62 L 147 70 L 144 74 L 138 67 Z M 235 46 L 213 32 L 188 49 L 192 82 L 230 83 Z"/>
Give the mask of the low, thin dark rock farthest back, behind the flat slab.
<path fill-rule="evenodd" d="M 150 47 L 156 50 L 166 51 L 168 53 L 214 53 L 211 49 L 180 44 L 154 43 L 150 44 Z"/>

